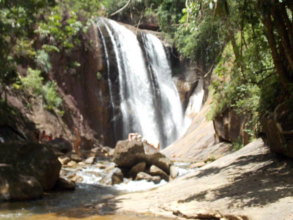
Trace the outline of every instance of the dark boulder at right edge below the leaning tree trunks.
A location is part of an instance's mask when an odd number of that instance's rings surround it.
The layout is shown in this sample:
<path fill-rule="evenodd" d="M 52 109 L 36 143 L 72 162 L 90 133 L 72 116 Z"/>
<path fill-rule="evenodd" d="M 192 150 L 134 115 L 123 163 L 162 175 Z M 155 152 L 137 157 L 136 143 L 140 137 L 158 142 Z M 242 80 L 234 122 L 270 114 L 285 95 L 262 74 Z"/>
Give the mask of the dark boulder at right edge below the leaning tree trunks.
<path fill-rule="evenodd" d="M 292 109 L 280 104 L 272 114 L 265 115 L 263 127 L 270 149 L 293 158 L 293 117 L 290 114 Z"/>

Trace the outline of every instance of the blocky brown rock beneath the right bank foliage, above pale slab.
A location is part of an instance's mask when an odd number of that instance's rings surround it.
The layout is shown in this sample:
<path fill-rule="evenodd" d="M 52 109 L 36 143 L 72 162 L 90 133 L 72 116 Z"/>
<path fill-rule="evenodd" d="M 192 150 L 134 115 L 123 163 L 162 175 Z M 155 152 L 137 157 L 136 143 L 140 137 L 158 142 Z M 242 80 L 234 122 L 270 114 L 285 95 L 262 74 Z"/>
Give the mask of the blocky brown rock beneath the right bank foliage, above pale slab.
<path fill-rule="evenodd" d="M 215 117 L 214 129 L 218 136 L 226 141 L 236 141 L 241 137 L 243 144 L 249 143 L 250 136 L 244 131 L 248 129 L 246 123 L 249 117 L 242 114 L 236 114 L 234 109 L 227 109 L 221 116 Z"/>

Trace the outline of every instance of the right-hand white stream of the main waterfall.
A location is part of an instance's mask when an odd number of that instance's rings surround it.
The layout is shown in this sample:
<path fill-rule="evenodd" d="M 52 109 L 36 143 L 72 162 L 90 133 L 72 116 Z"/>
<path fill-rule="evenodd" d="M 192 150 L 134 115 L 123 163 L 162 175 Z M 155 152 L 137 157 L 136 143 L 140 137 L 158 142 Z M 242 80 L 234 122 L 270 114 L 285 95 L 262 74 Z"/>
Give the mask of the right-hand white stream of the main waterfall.
<path fill-rule="evenodd" d="M 143 40 L 154 80 L 160 91 L 158 100 L 161 102 L 163 131 L 168 137 L 168 145 L 182 134 L 183 112 L 180 97 L 171 77 L 172 71 L 163 44 L 151 34 L 143 35 Z"/>

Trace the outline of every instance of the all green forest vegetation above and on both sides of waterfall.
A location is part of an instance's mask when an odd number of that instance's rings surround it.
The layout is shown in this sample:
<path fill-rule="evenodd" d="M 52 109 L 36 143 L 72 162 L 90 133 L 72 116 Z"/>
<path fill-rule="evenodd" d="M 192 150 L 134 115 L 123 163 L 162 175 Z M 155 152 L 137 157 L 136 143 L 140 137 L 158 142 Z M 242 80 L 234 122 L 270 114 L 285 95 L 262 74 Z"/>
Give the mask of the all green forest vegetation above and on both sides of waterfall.
<path fill-rule="evenodd" d="M 70 54 L 93 16 L 110 16 L 130 18 L 135 26 L 159 24 L 201 75 L 212 79 L 210 119 L 234 108 L 250 119 L 247 132 L 255 136 L 266 112 L 283 102 L 293 108 L 292 0 L 1 0 L 0 11 L 0 95 L 13 85 L 41 97 L 48 108 L 60 108 L 62 99 L 48 77 L 50 56 Z M 30 68 L 21 76 L 17 65 L 24 60 Z M 79 63 L 67 65 L 74 70 Z"/>

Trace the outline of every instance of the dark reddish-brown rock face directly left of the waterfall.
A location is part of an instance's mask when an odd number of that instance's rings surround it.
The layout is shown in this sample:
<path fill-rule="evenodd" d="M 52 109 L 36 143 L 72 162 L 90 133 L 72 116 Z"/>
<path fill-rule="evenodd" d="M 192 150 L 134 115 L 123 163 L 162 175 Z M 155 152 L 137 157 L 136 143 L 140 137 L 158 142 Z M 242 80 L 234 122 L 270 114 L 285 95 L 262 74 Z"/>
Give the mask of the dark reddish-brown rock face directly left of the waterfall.
<path fill-rule="evenodd" d="M 53 56 L 50 78 L 57 82 L 64 98 L 66 111 L 62 119 L 72 131 L 75 126 L 80 131 L 80 149 L 95 147 L 97 140 L 103 145 L 115 146 L 104 57 L 103 45 L 94 26 L 81 35 L 81 46 L 72 51 L 70 57 L 58 53 Z M 72 60 L 80 67 L 68 69 Z"/>

